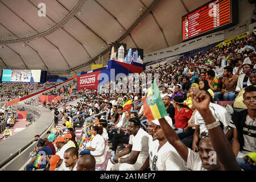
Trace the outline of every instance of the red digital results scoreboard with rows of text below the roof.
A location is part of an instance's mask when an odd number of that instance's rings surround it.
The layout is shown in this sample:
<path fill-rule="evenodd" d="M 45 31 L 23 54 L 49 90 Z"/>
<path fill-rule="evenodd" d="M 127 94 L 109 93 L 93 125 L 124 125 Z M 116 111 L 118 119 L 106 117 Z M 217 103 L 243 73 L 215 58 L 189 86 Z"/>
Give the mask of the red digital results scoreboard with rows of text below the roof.
<path fill-rule="evenodd" d="M 232 12 L 232 0 L 218 0 L 183 16 L 182 40 L 191 39 L 232 23 Z"/>

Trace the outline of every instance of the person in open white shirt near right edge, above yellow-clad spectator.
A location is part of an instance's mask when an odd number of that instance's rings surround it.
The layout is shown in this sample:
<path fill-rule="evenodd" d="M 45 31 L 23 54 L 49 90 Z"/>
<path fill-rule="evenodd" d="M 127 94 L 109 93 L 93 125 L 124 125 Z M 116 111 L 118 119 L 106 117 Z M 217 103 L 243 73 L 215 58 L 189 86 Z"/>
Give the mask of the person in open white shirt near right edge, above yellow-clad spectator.
<path fill-rule="evenodd" d="M 253 65 L 251 64 L 243 64 L 243 74 L 238 77 L 237 80 L 237 86 L 236 86 L 236 92 L 239 93 L 243 88 L 246 86 L 251 85 L 249 80 L 249 72 L 253 70 Z"/>

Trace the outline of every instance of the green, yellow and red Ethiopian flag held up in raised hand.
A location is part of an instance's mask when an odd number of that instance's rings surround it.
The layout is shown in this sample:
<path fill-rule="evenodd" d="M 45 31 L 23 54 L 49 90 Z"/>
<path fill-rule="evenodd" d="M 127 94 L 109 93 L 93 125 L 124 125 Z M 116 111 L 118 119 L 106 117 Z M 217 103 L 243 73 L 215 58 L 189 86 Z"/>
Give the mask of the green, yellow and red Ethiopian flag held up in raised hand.
<path fill-rule="evenodd" d="M 148 121 L 160 119 L 168 115 L 156 81 L 154 81 L 147 93 L 147 98 L 143 103 L 143 110 Z"/>

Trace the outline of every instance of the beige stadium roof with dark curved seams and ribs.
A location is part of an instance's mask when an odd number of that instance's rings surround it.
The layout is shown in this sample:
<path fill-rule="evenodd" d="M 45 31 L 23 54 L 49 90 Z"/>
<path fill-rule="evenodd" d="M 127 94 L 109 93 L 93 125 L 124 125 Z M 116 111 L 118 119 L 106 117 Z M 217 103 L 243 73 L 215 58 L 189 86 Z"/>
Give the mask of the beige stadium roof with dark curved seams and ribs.
<path fill-rule="evenodd" d="M 181 16 L 209 0 L 0 0 L 0 68 L 88 71 L 123 42 L 144 54 L 181 43 Z M 45 3 L 46 16 L 39 3 Z"/>

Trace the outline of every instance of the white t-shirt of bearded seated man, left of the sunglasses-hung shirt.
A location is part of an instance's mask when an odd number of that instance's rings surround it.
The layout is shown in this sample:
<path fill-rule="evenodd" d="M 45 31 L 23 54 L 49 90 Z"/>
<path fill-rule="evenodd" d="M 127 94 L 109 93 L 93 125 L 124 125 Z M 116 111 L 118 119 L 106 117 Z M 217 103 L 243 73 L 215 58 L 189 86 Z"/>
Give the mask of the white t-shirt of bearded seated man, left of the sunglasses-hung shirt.
<path fill-rule="evenodd" d="M 145 161 L 148 157 L 148 134 L 143 129 L 139 129 L 135 135 L 130 135 L 129 144 L 133 145 L 131 150 L 140 151 L 137 160 Z"/>

